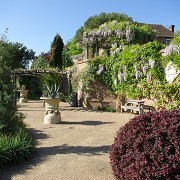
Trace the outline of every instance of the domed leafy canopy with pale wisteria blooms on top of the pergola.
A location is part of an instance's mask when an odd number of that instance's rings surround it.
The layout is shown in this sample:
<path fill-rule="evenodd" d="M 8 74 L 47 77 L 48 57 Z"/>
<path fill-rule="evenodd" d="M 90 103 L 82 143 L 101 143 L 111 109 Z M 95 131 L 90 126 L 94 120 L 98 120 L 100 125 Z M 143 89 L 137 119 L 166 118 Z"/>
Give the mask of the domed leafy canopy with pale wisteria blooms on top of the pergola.
<path fill-rule="evenodd" d="M 88 52 L 98 55 L 100 48 L 106 50 L 109 56 L 110 49 L 120 45 L 144 44 L 153 41 L 154 32 L 148 25 L 140 25 L 132 21 L 132 18 L 120 13 L 101 13 L 91 16 L 84 22 L 71 40 L 81 49 L 88 48 Z"/>

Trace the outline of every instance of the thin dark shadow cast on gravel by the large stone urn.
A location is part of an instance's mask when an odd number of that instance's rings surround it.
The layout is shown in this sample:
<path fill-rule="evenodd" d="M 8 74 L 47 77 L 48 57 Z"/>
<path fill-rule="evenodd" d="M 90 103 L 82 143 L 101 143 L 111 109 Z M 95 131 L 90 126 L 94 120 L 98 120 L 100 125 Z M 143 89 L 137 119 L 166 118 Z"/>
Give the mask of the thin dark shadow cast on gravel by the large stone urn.
<path fill-rule="evenodd" d="M 112 124 L 114 122 L 103 122 L 103 121 L 79 121 L 79 122 L 73 122 L 73 121 L 62 121 L 61 124 L 81 124 L 86 126 L 97 126 L 102 124 Z"/>

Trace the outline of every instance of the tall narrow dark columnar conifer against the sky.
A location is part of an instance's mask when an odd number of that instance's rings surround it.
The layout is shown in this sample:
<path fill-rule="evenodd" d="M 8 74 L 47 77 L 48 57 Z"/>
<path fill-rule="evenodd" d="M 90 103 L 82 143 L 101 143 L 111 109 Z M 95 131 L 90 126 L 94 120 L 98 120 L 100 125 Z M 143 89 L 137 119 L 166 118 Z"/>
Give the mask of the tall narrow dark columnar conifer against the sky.
<path fill-rule="evenodd" d="M 58 67 L 62 70 L 62 52 L 64 48 L 63 40 L 59 34 L 56 34 L 50 49 L 50 66 Z"/>

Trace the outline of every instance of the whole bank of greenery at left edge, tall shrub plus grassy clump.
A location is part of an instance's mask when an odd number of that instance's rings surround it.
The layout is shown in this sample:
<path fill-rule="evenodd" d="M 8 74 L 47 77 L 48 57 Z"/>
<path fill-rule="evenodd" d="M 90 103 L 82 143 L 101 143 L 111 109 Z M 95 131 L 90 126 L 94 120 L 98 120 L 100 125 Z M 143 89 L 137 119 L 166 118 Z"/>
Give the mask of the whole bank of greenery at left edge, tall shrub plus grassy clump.
<path fill-rule="evenodd" d="M 29 136 L 24 115 L 15 106 L 12 66 L 14 56 L 0 40 L 0 169 L 6 164 L 19 163 L 31 157 L 34 143 Z"/>

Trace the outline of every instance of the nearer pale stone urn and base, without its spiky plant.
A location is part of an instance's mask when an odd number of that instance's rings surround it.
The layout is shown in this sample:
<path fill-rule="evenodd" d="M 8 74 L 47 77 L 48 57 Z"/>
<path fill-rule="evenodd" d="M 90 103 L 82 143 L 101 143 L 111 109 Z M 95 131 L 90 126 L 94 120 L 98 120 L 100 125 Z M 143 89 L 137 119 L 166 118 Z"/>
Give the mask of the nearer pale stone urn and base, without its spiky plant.
<path fill-rule="evenodd" d="M 45 101 L 44 124 L 59 124 L 61 114 L 59 111 L 60 99 L 41 98 Z"/>

